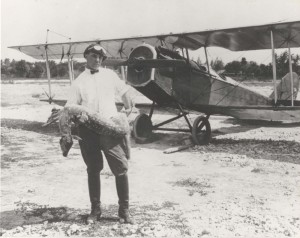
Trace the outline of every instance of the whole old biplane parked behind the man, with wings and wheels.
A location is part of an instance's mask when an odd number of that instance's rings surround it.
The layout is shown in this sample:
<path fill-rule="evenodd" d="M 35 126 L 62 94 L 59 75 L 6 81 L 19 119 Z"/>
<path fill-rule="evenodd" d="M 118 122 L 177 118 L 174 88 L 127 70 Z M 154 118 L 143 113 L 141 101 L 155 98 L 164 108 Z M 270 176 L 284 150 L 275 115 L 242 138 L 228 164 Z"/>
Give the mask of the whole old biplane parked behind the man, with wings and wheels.
<path fill-rule="evenodd" d="M 151 100 L 149 113 L 138 115 L 134 121 L 133 134 L 140 141 L 146 140 L 153 130 L 166 130 L 190 132 L 196 144 L 207 144 L 211 139 L 209 117 L 214 114 L 245 120 L 300 122 L 300 101 L 296 100 L 299 78 L 293 77 L 290 51 L 300 47 L 300 21 L 10 48 L 35 59 L 46 60 L 48 102 L 63 105 L 64 100 L 55 100 L 51 96 L 48 60 L 67 59 L 70 81 L 73 81 L 72 60 L 83 58 L 84 49 L 91 43 L 98 43 L 106 49 L 109 57 L 103 62 L 104 66 L 120 67 L 126 82 Z M 214 72 L 207 59 L 208 47 L 231 51 L 270 49 L 274 84 L 272 96 L 261 95 Z M 199 65 L 189 56 L 190 51 L 200 48 L 204 49 L 206 65 Z M 275 49 L 281 48 L 287 48 L 289 52 L 290 90 L 289 97 L 284 99 L 278 91 L 275 63 Z M 154 125 L 151 119 L 158 107 L 172 108 L 176 115 Z M 189 112 L 204 115 L 191 123 L 187 117 Z M 163 127 L 182 117 L 186 120 L 186 129 Z"/>

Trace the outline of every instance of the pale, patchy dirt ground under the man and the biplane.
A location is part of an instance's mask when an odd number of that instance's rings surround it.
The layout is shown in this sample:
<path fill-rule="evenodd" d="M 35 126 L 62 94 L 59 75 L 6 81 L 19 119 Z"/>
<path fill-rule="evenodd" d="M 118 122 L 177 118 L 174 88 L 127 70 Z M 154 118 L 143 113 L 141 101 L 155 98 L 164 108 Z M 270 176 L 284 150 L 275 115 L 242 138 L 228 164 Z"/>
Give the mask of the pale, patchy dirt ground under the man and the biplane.
<path fill-rule="evenodd" d="M 56 98 L 67 87 L 53 85 Z M 53 108 L 38 100 L 43 88 L 29 81 L 1 85 L 2 236 L 300 237 L 300 124 L 272 127 L 212 116 L 210 145 L 173 154 L 164 151 L 188 134 L 156 132 L 147 144 L 132 140 L 135 224 L 118 222 L 115 181 L 105 163 L 103 217 L 85 225 L 85 165 L 77 142 L 64 158 L 58 127 L 42 127 Z M 155 115 L 154 121 L 168 117 Z"/>

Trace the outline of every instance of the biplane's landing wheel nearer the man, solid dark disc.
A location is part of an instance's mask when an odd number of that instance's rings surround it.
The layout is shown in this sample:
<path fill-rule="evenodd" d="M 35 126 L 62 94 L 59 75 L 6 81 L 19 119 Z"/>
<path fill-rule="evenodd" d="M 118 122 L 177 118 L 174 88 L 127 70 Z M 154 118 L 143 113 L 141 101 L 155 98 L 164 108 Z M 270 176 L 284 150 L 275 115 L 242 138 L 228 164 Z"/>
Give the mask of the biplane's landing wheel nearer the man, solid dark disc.
<path fill-rule="evenodd" d="M 138 115 L 133 122 L 133 136 L 136 143 L 147 143 L 152 134 L 152 121 L 144 113 Z"/>

